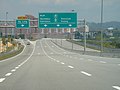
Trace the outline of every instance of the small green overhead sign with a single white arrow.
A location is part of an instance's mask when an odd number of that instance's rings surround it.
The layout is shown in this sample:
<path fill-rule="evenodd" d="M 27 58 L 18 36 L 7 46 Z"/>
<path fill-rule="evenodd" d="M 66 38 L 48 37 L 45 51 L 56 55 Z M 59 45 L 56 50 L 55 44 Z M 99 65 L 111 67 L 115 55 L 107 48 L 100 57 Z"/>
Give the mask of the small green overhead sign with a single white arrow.
<path fill-rule="evenodd" d="M 16 28 L 29 28 L 30 27 L 30 22 L 29 19 L 25 19 L 25 20 L 16 20 Z"/>

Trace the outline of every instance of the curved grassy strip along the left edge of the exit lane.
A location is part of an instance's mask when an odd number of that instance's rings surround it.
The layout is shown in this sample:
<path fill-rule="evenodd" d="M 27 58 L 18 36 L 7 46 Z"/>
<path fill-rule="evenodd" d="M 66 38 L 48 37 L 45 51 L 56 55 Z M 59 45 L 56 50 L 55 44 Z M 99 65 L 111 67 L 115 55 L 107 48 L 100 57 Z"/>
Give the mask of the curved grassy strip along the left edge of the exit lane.
<path fill-rule="evenodd" d="M 19 54 L 23 51 L 23 48 L 24 48 L 24 46 L 21 45 L 21 46 L 19 46 L 18 50 L 14 50 L 14 51 L 11 51 L 9 53 L 2 53 L 2 55 L 0 55 L 0 60 L 4 60 L 4 59 L 7 59 L 7 58 L 16 56 L 17 54 Z M 11 50 L 11 48 L 9 48 L 8 50 Z"/>

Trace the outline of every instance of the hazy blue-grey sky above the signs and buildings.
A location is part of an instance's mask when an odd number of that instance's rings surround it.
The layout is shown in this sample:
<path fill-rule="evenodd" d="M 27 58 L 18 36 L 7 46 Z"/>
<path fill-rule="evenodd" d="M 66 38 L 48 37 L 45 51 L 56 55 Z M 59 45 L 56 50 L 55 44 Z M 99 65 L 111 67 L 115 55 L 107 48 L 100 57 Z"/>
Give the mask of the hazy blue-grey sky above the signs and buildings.
<path fill-rule="evenodd" d="M 103 22 L 120 22 L 120 0 L 103 0 Z M 78 19 L 100 22 L 101 0 L 0 0 L 0 20 L 16 19 L 25 14 L 38 17 L 40 12 L 77 12 Z"/>

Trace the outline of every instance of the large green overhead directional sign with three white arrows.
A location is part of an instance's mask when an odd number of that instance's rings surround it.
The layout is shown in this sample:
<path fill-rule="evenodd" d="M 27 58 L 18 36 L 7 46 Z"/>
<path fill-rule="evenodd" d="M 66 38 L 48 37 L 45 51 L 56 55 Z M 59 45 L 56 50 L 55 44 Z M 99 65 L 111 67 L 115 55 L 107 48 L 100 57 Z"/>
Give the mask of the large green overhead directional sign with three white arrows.
<path fill-rule="evenodd" d="M 39 13 L 39 28 L 76 28 L 77 13 Z"/>

